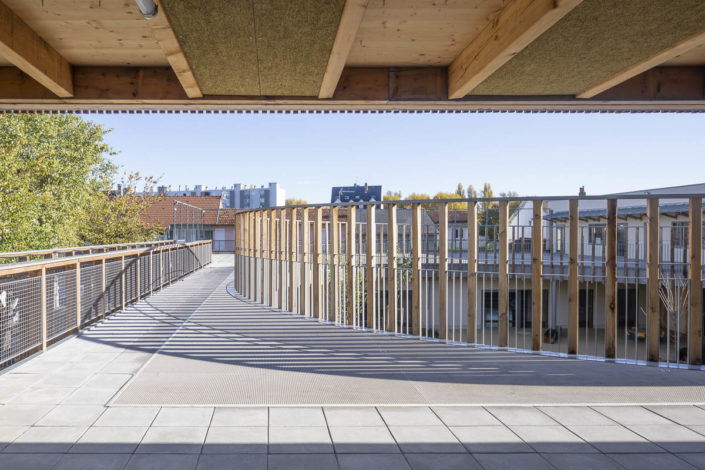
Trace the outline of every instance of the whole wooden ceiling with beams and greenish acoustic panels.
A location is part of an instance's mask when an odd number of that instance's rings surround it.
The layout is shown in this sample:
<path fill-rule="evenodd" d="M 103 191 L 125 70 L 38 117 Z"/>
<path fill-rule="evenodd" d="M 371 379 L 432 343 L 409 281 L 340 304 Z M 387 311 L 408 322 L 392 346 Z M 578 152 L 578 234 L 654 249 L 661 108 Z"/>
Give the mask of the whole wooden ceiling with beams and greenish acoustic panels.
<path fill-rule="evenodd" d="M 0 111 L 703 111 L 701 0 L 0 0 Z"/>

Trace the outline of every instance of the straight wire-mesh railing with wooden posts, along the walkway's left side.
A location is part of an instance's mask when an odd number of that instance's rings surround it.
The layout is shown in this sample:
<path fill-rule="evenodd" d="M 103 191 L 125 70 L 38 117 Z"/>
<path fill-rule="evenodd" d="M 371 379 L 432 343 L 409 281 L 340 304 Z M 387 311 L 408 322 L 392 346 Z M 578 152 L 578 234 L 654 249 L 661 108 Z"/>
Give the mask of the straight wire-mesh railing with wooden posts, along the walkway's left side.
<path fill-rule="evenodd" d="M 211 262 L 210 241 L 103 248 L 0 265 L 0 369 Z"/>

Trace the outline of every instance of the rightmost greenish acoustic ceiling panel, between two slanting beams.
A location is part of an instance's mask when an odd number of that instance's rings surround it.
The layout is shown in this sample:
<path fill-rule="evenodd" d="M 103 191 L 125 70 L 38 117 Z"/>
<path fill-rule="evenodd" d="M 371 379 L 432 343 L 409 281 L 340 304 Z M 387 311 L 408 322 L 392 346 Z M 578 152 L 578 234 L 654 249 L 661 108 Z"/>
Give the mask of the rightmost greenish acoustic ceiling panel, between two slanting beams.
<path fill-rule="evenodd" d="M 471 94 L 576 95 L 703 30 L 703 0 L 584 0 Z"/>

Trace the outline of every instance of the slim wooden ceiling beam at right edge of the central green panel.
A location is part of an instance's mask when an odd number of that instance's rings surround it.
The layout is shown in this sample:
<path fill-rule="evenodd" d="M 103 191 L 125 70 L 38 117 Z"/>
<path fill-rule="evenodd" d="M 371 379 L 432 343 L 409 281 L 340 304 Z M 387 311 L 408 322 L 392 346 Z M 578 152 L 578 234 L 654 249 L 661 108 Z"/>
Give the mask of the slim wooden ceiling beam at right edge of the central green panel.
<path fill-rule="evenodd" d="M 340 17 L 338 31 L 335 34 L 333 48 L 328 58 L 326 72 L 323 75 L 318 97 L 332 98 L 345 68 L 345 62 L 352 49 L 362 18 L 365 16 L 369 0 L 346 0 L 343 14 Z"/>

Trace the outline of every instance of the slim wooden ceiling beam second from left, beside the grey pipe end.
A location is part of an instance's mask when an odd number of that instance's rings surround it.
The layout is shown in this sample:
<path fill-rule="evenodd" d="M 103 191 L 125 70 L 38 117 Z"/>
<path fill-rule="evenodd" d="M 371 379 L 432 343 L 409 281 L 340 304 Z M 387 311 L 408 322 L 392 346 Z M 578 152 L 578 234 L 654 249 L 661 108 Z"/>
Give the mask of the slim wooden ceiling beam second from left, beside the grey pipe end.
<path fill-rule="evenodd" d="M 157 2 L 157 7 L 157 16 L 146 20 L 152 27 L 152 36 L 159 44 L 159 47 L 162 48 L 162 51 L 164 51 L 164 55 L 184 88 L 186 96 L 189 98 L 203 98 L 201 87 L 196 81 L 191 65 L 188 63 L 186 55 L 181 49 L 181 44 L 179 44 L 174 30 L 171 28 L 166 9 L 161 2 Z"/>

